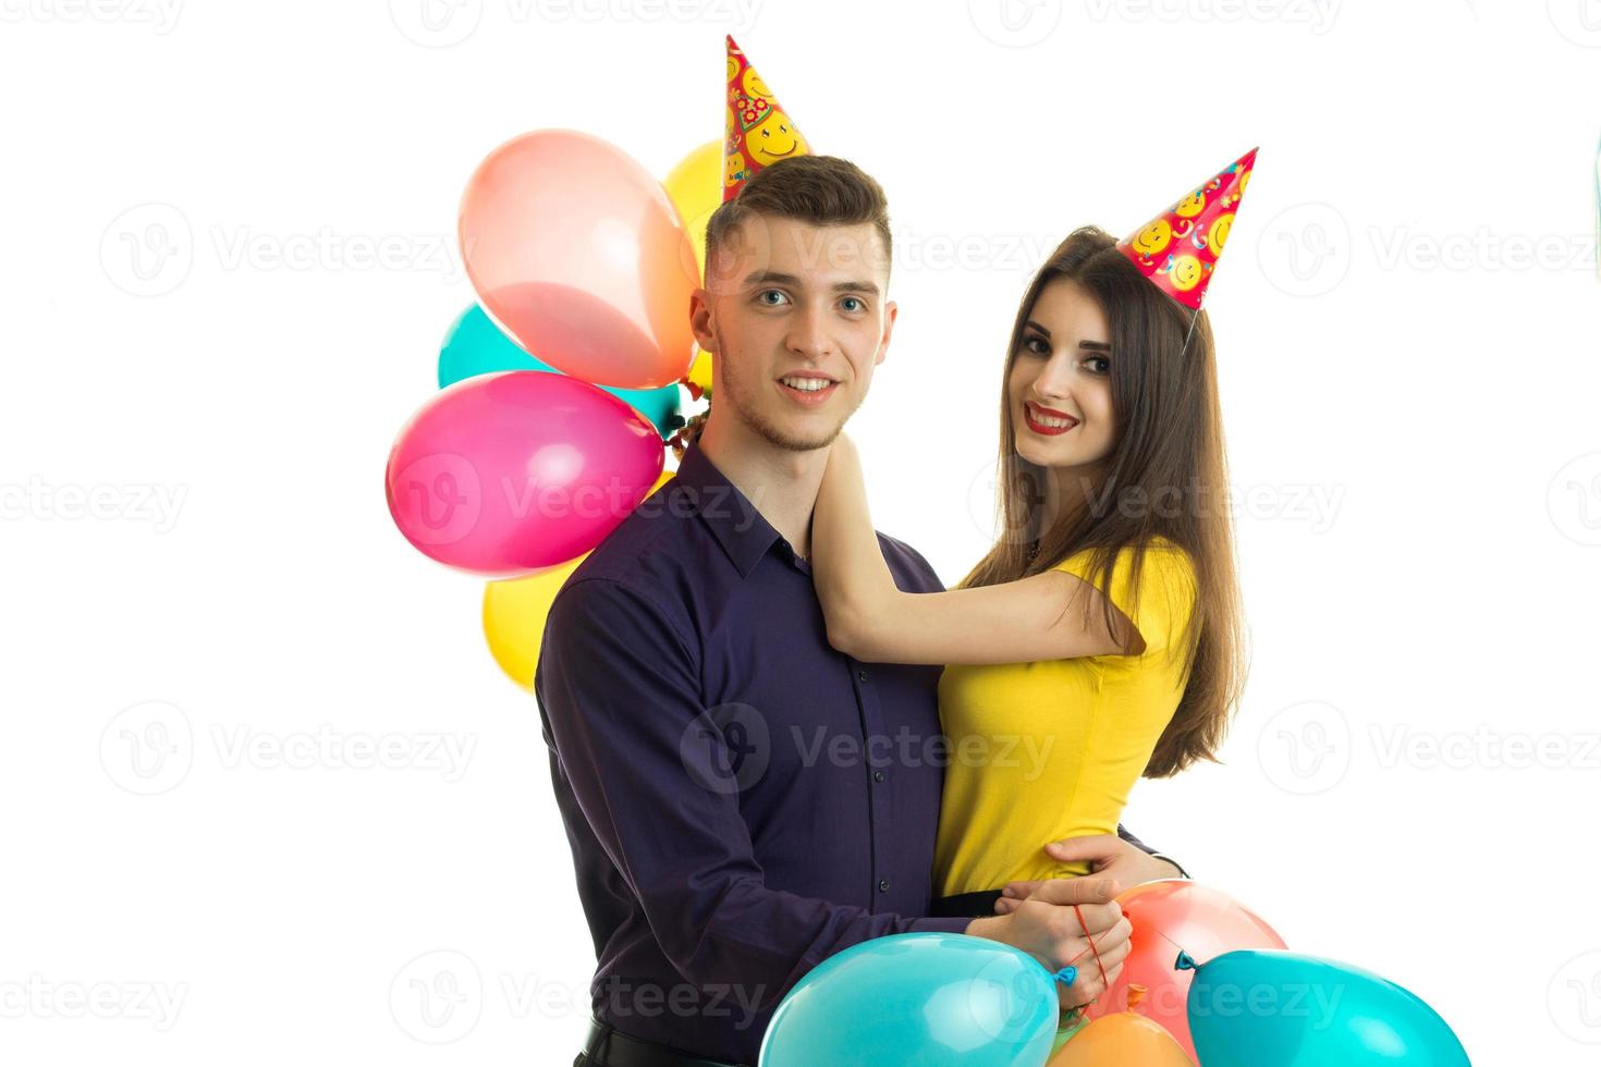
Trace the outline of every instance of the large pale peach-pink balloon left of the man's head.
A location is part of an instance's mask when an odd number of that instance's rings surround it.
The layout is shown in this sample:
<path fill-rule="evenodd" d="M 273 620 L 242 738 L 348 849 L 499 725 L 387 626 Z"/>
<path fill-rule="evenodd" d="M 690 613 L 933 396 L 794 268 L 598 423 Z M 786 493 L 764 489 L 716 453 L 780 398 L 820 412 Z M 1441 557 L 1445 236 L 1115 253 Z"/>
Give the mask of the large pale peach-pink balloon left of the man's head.
<path fill-rule="evenodd" d="M 551 366 L 620 389 L 688 373 L 695 250 L 621 150 L 572 130 L 514 138 L 472 173 L 458 230 L 484 310 Z"/>

